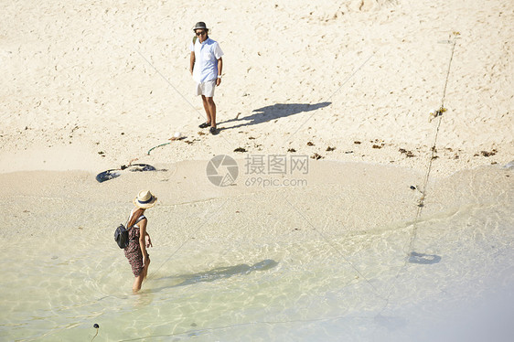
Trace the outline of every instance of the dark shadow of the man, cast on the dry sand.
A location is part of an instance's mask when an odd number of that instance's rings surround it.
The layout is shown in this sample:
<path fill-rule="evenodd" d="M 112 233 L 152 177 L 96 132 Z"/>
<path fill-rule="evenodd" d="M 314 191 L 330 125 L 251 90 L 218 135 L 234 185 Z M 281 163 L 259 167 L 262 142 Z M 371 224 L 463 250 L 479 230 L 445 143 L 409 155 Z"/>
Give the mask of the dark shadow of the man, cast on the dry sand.
<path fill-rule="evenodd" d="M 287 116 L 291 116 L 297 114 L 299 112 L 313 112 L 320 108 L 327 107 L 332 102 L 319 102 L 316 104 L 309 103 L 276 103 L 271 106 L 262 107 L 259 109 L 255 109 L 252 112 L 252 115 L 245 116 L 243 118 L 234 118 L 221 123 L 225 127 L 220 128 L 220 130 L 228 130 L 233 128 L 239 128 L 242 126 L 251 126 L 253 124 L 265 123 L 268 121 L 276 120 L 279 118 L 284 118 Z M 227 127 L 227 123 L 233 122 L 243 122 L 236 124 L 235 126 Z"/>

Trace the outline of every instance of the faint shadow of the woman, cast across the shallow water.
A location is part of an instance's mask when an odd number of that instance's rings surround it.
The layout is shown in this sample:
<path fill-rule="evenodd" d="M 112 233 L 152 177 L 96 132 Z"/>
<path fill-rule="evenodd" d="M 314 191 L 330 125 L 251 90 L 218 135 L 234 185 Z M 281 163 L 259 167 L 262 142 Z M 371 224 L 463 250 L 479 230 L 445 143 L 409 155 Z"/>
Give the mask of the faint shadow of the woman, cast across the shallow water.
<path fill-rule="evenodd" d="M 210 283 L 217 281 L 219 279 L 230 278 L 234 275 L 246 275 L 250 274 L 254 271 L 266 271 L 270 270 L 273 267 L 278 265 L 278 262 L 275 262 L 271 259 L 263 260 L 262 262 L 257 262 L 252 266 L 247 265 L 246 263 L 241 263 L 236 266 L 228 266 L 228 267 L 218 267 L 213 270 L 202 272 L 202 273 L 193 273 L 193 274 L 183 274 L 183 275 L 172 275 L 167 277 L 162 277 L 155 279 L 157 282 L 162 281 L 178 281 L 178 283 L 174 283 L 169 286 L 162 286 L 153 288 L 152 292 L 158 292 L 170 287 L 178 287 L 178 286 L 187 286 L 195 283 Z"/>

